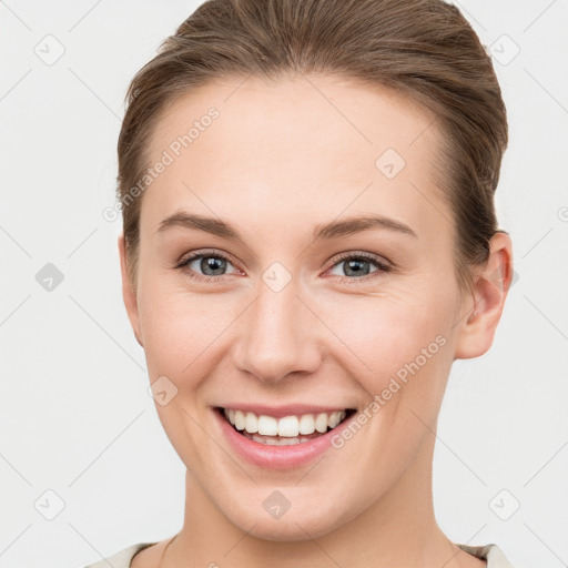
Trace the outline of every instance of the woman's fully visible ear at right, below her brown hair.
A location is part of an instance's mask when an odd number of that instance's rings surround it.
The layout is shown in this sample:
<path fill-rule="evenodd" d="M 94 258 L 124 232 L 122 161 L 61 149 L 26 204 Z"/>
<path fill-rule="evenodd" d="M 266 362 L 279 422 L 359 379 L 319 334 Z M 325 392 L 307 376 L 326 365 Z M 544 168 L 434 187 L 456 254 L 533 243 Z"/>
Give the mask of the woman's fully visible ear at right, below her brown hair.
<path fill-rule="evenodd" d="M 466 307 L 468 315 L 458 324 L 455 358 L 478 357 L 489 349 L 511 281 L 510 237 L 498 232 L 489 241 L 489 258 L 485 267 L 475 276 L 474 297 L 469 296 Z"/>

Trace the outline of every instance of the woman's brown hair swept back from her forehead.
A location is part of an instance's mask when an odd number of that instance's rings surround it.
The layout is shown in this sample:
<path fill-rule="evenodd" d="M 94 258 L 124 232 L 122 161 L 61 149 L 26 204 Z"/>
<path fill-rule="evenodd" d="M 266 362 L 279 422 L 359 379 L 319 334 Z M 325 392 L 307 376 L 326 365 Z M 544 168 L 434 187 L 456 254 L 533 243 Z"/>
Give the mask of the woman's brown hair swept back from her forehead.
<path fill-rule="evenodd" d="M 209 0 L 133 78 L 119 136 L 118 196 L 129 271 L 136 274 L 142 195 L 161 111 L 215 79 L 341 75 L 394 89 L 440 132 L 439 180 L 454 212 L 456 274 L 485 263 L 498 231 L 494 193 L 507 115 L 490 57 L 459 10 L 442 0 Z M 130 197 L 130 199 L 129 199 Z"/>

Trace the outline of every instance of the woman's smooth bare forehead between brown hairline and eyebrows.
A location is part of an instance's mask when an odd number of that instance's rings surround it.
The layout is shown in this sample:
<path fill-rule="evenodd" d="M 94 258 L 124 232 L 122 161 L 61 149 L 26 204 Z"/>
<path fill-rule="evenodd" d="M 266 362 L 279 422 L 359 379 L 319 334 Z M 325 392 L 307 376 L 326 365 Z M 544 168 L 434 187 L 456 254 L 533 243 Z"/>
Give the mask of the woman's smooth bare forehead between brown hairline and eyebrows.
<path fill-rule="evenodd" d="M 160 116 L 148 162 L 168 155 L 169 165 L 142 216 L 155 225 L 183 206 L 231 217 L 246 205 L 254 220 L 278 216 L 274 227 L 300 211 L 316 224 L 346 209 L 425 224 L 425 200 L 438 199 L 437 136 L 433 115 L 384 88 L 312 75 L 215 81 Z"/>

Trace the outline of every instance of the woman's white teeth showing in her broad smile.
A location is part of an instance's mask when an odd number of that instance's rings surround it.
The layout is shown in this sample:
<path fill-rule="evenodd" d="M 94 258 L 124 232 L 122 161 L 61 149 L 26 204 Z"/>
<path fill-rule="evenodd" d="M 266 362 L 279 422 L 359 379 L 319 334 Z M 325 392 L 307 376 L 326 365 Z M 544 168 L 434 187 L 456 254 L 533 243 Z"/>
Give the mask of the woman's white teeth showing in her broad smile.
<path fill-rule="evenodd" d="M 248 434 L 258 433 L 262 436 L 282 436 L 300 439 L 300 442 L 290 440 L 290 444 L 307 442 L 310 438 L 297 438 L 298 435 L 310 435 L 318 432 L 325 434 L 327 428 L 335 428 L 346 416 L 344 410 L 334 413 L 303 414 L 301 416 L 284 416 L 274 418 L 273 416 L 261 415 L 232 408 L 224 409 L 225 417 L 235 426 L 237 430 L 246 430 Z M 248 437 L 248 436 L 247 436 Z M 263 439 L 258 436 L 251 436 L 251 439 Z M 256 440 L 255 440 L 256 442 Z M 274 440 L 267 442 L 273 444 Z M 287 444 L 287 440 L 276 442 L 278 445 Z"/>

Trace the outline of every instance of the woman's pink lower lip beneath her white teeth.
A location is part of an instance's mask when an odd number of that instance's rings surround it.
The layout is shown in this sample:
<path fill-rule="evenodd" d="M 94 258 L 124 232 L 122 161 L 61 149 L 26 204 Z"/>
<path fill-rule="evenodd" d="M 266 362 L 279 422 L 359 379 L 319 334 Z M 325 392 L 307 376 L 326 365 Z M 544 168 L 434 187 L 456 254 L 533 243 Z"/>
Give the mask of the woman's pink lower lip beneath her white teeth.
<path fill-rule="evenodd" d="M 244 459 L 265 469 L 292 469 L 308 464 L 329 448 L 332 437 L 338 432 L 336 427 L 310 442 L 302 442 L 293 446 L 270 446 L 253 442 L 239 434 L 222 416 L 221 412 L 213 409 L 223 435 L 229 439 L 235 452 Z M 342 422 L 339 426 L 344 427 L 351 418 Z"/>

